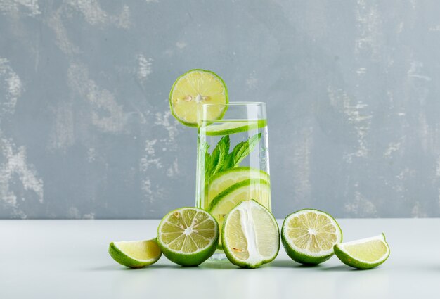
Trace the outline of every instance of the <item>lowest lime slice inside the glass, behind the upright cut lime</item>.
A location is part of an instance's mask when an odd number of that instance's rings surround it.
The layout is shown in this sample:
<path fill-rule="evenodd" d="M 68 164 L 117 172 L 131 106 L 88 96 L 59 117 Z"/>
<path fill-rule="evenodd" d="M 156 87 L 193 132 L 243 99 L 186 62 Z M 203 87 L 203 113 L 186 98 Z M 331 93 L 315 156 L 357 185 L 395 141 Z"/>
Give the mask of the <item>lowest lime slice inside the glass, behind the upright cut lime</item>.
<path fill-rule="evenodd" d="M 246 179 L 219 193 L 210 204 L 210 212 L 222 227 L 224 218 L 241 201 L 254 199 L 271 208 L 271 187 L 261 179 Z M 221 243 L 219 243 L 221 248 Z"/>

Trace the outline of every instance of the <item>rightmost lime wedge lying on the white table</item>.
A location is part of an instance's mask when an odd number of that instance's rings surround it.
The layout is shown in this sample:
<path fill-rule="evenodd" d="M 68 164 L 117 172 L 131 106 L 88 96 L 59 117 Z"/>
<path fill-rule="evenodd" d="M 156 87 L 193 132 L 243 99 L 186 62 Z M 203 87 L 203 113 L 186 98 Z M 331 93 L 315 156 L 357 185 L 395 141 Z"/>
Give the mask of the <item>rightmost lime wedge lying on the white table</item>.
<path fill-rule="evenodd" d="M 371 269 L 381 265 L 389 257 L 385 235 L 363 238 L 335 245 L 335 254 L 345 265 L 358 269 Z"/>

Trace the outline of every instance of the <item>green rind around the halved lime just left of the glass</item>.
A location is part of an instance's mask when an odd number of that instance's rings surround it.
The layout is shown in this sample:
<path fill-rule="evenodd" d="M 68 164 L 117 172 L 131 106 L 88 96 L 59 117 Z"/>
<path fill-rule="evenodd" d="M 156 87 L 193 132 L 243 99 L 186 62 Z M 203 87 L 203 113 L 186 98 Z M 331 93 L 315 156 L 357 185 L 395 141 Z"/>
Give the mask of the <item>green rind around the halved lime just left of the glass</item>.
<path fill-rule="evenodd" d="M 208 215 L 209 219 L 214 221 L 214 226 L 215 226 L 214 238 L 212 238 L 208 246 L 198 250 L 195 253 L 183 253 L 181 251 L 176 251 L 173 250 L 172 248 L 169 248 L 167 244 L 162 242 L 162 238 L 161 238 L 162 225 L 167 222 L 169 216 L 172 215 L 174 212 L 181 212 L 184 209 L 197 210 L 198 212 L 205 213 L 206 215 Z M 162 253 L 165 255 L 165 257 L 168 258 L 168 260 L 181 266 L 195 267 L 200 265 L 202 262 L 205 262 L 205 260 L 207 260 L 209 257 L 211 257 L 214 254 L 218 243 L 219 243 L 218 222 L 214 217 L 212 217 L 212 215 L 210 215 L 208 212 L 200 208 L 183 207 L 176 210 L 172 210 L 162 218 L 162 220 L 159 223 L 159 226 L 157 227 L 157 244 L 159 245 L 160 250 L 162 250 Z"/>

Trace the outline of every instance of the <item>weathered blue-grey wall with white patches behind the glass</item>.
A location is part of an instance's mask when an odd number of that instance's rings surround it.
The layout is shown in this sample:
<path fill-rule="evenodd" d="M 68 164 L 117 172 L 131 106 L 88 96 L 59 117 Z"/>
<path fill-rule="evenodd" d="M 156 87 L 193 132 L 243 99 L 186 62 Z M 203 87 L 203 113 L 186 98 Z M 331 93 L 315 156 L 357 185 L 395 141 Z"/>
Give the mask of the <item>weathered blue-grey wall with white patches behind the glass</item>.
<path fill-rule="evenodd" d="M 440 216 L 439 1 L 0 0 L 0 217 L 193 205 L 191 68 L 268 103 L 273 210 Z"/>

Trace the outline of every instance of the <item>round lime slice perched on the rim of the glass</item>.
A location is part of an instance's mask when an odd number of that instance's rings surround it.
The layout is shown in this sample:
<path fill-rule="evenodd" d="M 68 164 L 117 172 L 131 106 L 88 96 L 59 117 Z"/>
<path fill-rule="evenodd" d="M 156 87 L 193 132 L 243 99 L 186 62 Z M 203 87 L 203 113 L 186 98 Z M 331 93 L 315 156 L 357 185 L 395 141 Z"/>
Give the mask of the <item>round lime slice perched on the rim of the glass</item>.
<path fill-rule="evenodd" d="M 209 70 L 190 70 L 174 82 L 169 92 L 172 115 L 183 125 L 200 127 L 198 109 L 204 103 L 225 104 L 209 109 L 206 120 L 219 120 L 226 112 L 228 89 L 224 81 Z"/>

